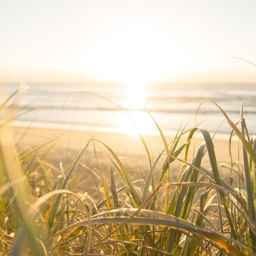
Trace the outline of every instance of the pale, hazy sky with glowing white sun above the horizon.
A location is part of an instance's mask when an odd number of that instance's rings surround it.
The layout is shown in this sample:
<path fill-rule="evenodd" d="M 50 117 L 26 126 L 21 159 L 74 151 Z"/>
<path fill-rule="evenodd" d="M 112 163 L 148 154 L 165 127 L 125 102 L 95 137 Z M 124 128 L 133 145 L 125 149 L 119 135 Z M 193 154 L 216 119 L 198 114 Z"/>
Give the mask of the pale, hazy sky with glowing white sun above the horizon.
<path fill-rule="evenodd" d="M 0 0 L 0 80 L 256 81 L 255 0 Z"/>

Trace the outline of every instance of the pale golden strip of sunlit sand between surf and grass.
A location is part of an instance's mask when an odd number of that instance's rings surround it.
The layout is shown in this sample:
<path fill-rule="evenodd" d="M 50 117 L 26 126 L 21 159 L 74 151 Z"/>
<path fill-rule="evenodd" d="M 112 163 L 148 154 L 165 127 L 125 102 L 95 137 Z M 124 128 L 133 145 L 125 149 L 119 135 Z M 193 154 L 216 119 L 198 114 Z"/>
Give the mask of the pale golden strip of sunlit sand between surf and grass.
<path fill-rule="evenodd" d="M 138 158 L 146 157 L 146 151 L 139 136 L 132 136 L 121 133 L 111 133 L 102 131 L 81 131 L 81 130 L 61 130 L 52 128 L 39 128 L 30 127 L 28 130 L 26 127 L 13 127 L 15 140 L 19 144 L 19 148 L 32 149 L 40 145 L 43 145 L 53 140 L 51 145 L 52 150 L 57 151 L 76 151 L 79 152 L 90 139 L 102 141 L 106 145 L 110 146 L 118 157 L 124 155 L 135 155 Z M 186 142 L 188 133 L 183 135 L 179 145 Z M 144 135 L 143 136 L 148 150 L 152 158 L 158 156 L 164 148 L 164 143 L 160 135 Z M 165 136 L 166 141 L 169 143 L 173 140 L 173 136 Z M 229 147 L 228 147 L 229 135 L 216 135 L 214 138 L 215 152 L 218 163 L 225 162 L 230 163 Z M 200 144 L 203 142 L 203 137 L 199 133 L 193 138 L 190 145 L 190 154 L 188 156 L 191 161 L 193 156 L 193 149 L 197 151 Z M 46 145 L 49 146 L 49 145 Z M 95 141 L 96 147 L 100 145 Z M 100 145 L 102 148 L 102 145 Z M 93 150 L 93 147 L 89 147 L 89 151 Z M 183 156 L 183 155 L 181 155 Z M 234 159 L 238 158 L 238 145 L 236 138 L 232 139 L 232 156 Z M 204 157 L 204 163 L 208 163 L 207 154 Z"/>

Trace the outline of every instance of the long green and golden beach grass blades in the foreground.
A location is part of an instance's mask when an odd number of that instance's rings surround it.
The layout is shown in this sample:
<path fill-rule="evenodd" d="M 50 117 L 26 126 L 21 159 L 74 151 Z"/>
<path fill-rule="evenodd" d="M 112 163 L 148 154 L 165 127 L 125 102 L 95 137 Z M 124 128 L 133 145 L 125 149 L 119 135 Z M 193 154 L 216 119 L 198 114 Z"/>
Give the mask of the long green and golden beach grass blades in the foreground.
<path fill-rule="evenodd" d="M 233 123 L 212 102 L 230 125 L 229 161 L 217 161 L 215 134 L 192 127 L 167 141 L 151 116 L 163 150 L 152 158 L 140 134 L 147 167 L 135 175 L 129 169 L 135 159 L 124 163 L 93 137 L 68 162 L 61 154 L 49 160 L 54 139 L 23 151 L 13 139 L 11 97 L 0 106 L 0 254 L 256 253 L 256 137 L 247 130 L 243 103 Z M 196 133 L 203 143 L 191 149 Z M 231 154 L 234 138 L 238 159 Z"/>

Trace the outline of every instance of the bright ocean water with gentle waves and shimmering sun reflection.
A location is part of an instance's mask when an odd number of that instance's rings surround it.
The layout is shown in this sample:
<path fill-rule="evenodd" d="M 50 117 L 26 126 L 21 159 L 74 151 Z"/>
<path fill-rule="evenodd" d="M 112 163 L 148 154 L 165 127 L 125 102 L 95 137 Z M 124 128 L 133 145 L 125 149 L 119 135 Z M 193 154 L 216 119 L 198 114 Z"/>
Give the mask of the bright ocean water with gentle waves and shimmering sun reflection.
<path fill-rule="evenodd" d="M 0 100 L 5 100 L 18 88 L 19 84 L 2 85 Z M 18 105 L 17 115 L 27 112 L 16 118 L 15 125 L 135 135 L 131 118 L 120 107 L 132 116 L 142 134 L 158 133 L 147 110 L 165 134 L 195 125 L 215 132 L 224 117 L 209 101 L 198 109 L 204 99 L 219 104 L 233 122 L 240 119 L 241 103 L 246 99 L 244 116 L 249 133 L 256 135 L 256 84 L 249 83 L 155 83 L 145 86 L 105 82 L 28 83 L 13 102 Z M 230 132 L 230 126 L 224 121 L 219 133 Z"/>

